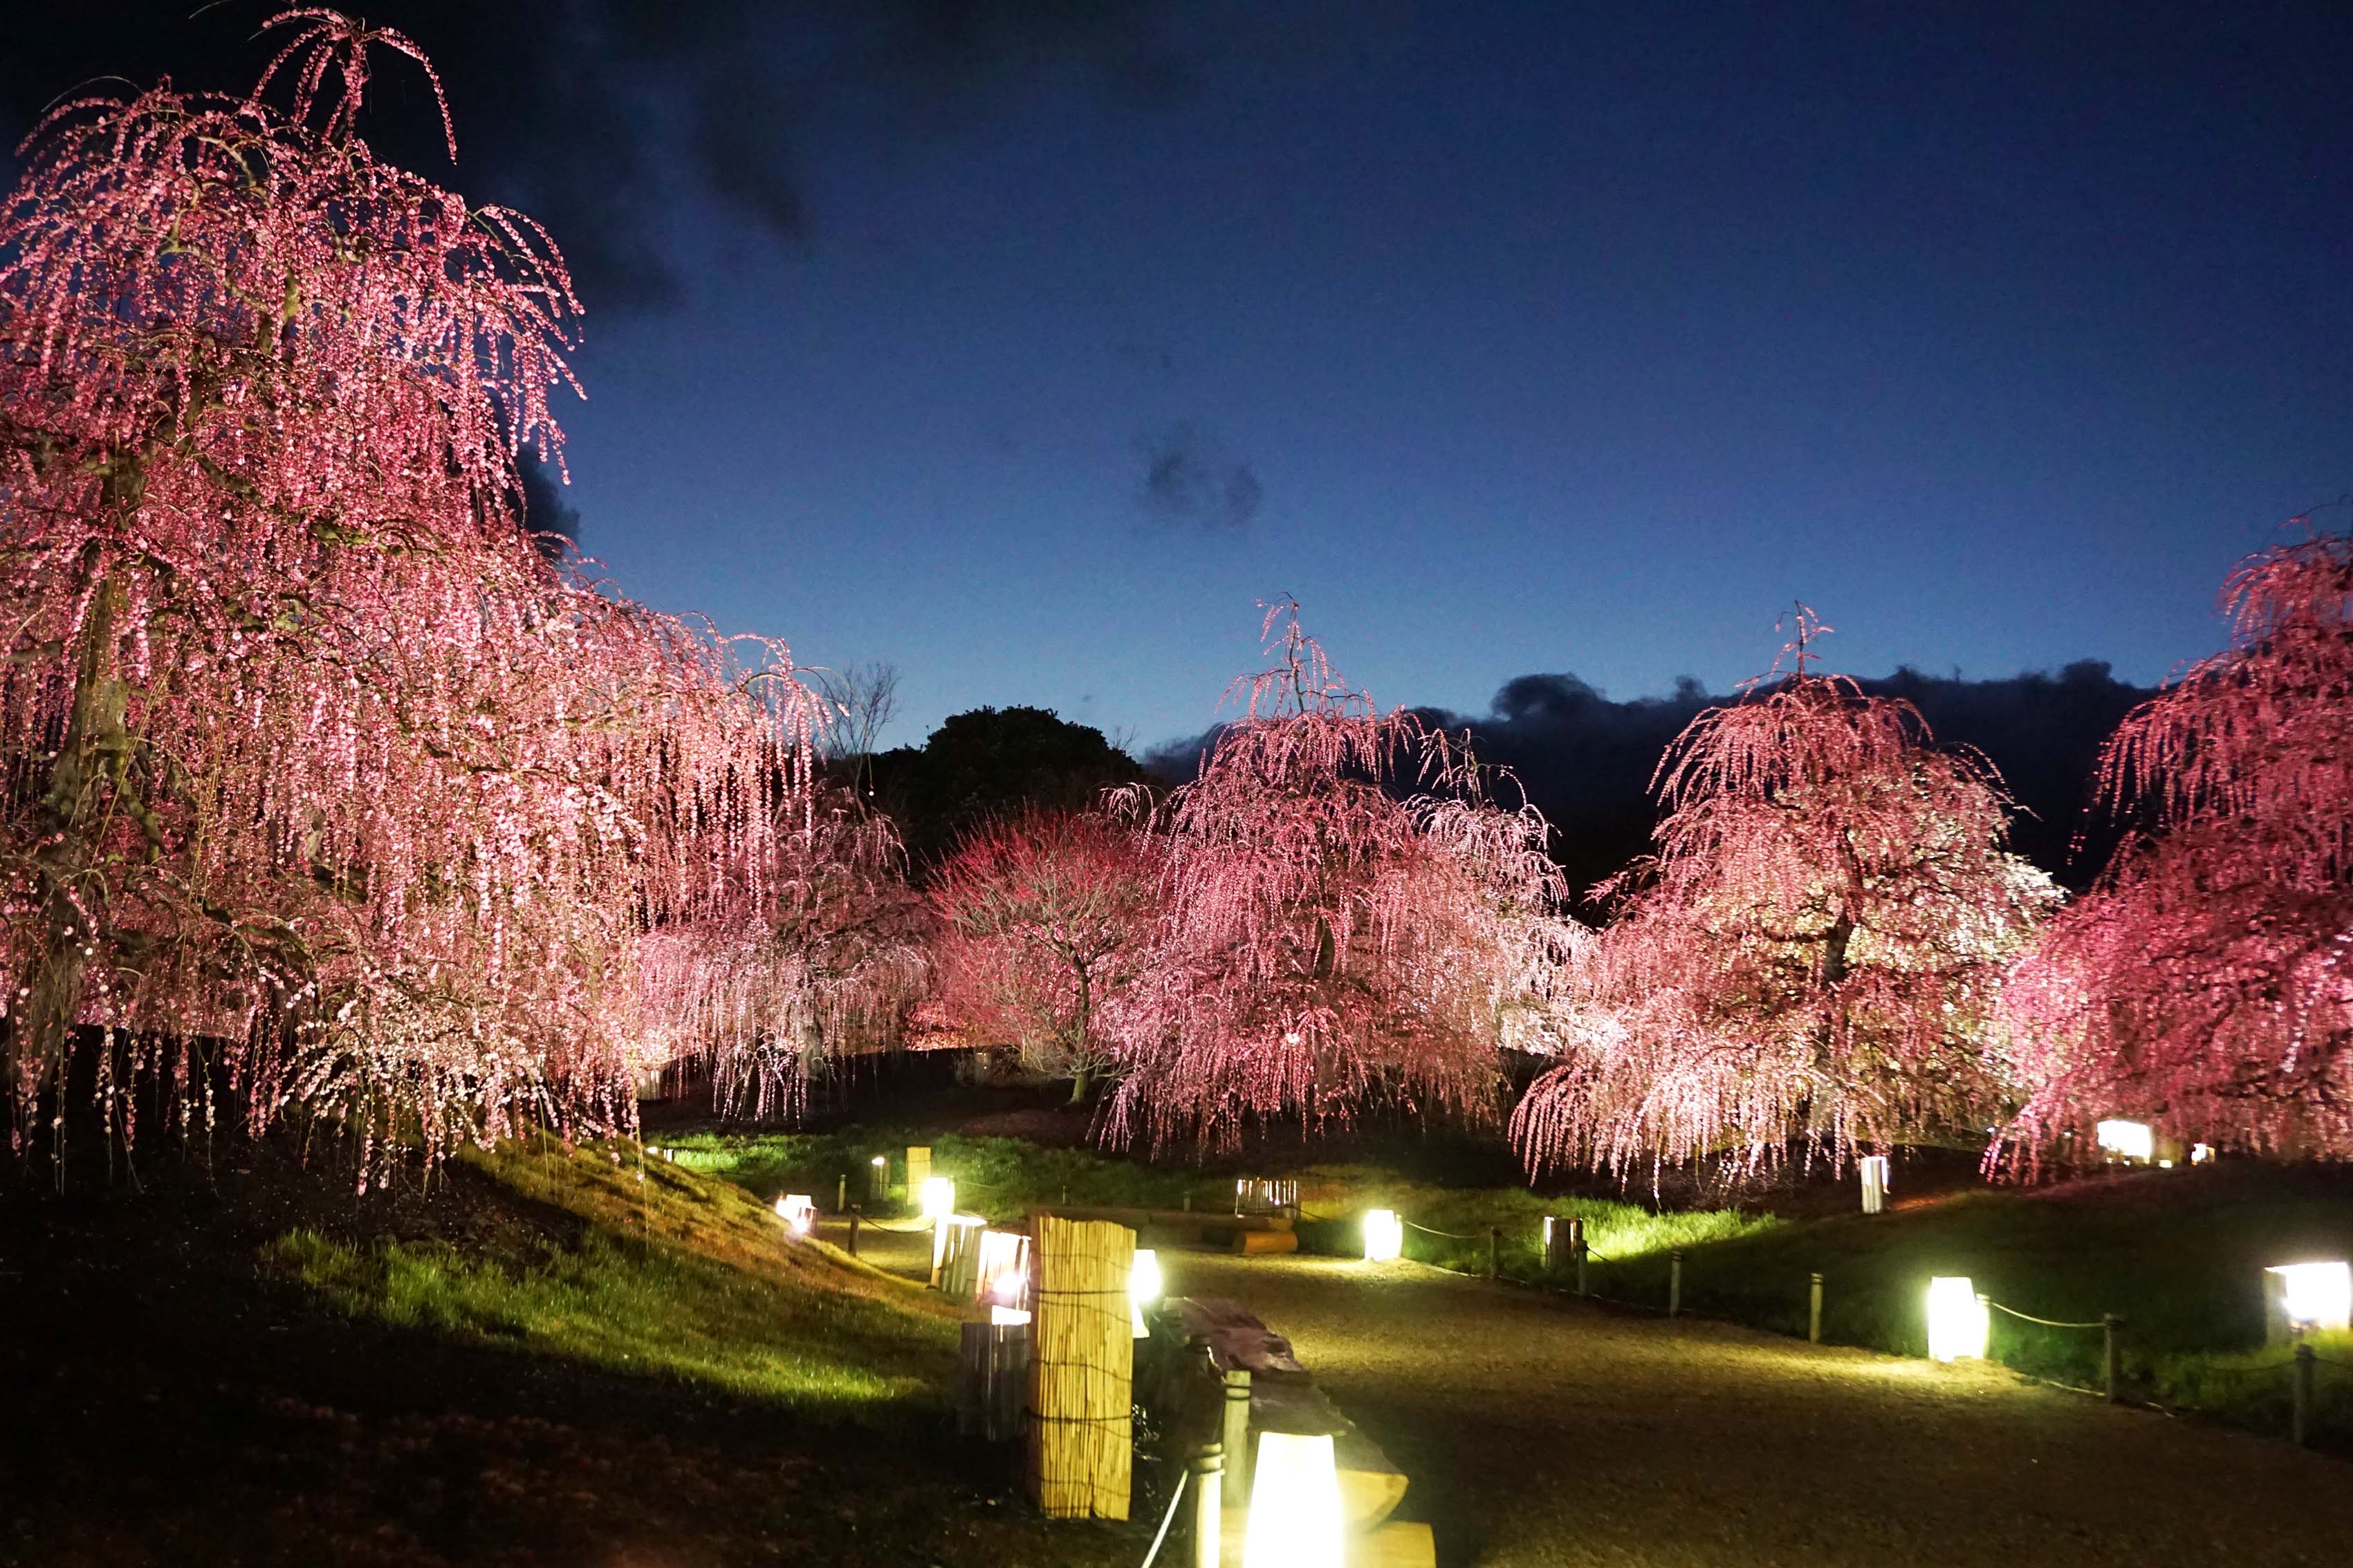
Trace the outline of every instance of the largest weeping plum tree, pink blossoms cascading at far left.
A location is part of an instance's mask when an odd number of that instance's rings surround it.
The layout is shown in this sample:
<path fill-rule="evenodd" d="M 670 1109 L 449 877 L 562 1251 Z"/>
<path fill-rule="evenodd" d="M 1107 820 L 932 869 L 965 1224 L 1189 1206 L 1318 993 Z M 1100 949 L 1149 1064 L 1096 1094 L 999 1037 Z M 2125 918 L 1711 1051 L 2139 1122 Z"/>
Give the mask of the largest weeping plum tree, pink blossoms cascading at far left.
<path fill-rule="evenodd" d="M 619 1126 L 638 943 L 776 891 L 809 693 L 520 531 L 562 259 L 358 136 L 409 40 L 271 26 L 247 99 L 52 113 L 0 207 L 14 1143 L 75 1053 L 122 1138 L 134 1084 L 372 1150 Z"/>

